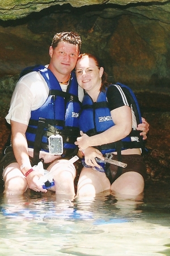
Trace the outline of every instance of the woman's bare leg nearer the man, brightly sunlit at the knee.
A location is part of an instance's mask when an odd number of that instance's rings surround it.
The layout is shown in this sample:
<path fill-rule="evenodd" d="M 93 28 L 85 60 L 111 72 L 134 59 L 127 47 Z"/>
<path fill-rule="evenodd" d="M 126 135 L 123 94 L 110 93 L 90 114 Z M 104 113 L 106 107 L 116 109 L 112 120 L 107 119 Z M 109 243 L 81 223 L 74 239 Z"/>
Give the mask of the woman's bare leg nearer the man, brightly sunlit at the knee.
<path fill-rule="evenodd" d="M 77 187 L 77 196 L 95 196 L 103 191 L 110 191 L 111 183 L 104 172 L 83 167 Z"/>

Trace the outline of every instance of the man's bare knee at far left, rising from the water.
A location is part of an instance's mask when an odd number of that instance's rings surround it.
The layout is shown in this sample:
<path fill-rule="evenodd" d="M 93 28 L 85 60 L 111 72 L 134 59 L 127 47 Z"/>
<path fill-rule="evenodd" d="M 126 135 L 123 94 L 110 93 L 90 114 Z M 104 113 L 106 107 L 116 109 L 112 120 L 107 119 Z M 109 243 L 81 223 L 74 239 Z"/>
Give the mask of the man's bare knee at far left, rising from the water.
<path fill-rule="evenodd" d="M 11 163 L 3 170 L 6 195 L 22 195 L 27 190 L 27 180 L 18 163 Z"/>

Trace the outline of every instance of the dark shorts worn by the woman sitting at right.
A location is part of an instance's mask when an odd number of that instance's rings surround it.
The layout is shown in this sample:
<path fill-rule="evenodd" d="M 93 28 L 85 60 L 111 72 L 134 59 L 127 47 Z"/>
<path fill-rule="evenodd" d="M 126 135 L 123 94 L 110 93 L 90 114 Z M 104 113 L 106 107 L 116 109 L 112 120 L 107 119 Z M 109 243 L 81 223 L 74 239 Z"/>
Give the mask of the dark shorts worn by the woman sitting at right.
<path fill-rule="evenodd" d="M 112 159 L 117 160 L 117 155 L 113 155 Z M 109 164 L 106 167 L 105 174 L 111 181 L 111 184 L 122 174 L 125 174 L 125 172 L 138 172 L 144 180 L 146 179 L 146 166 L 141 155 L 121 155 L 121 162 L 126 163 L 127 166 L 120 168 L 114 164 Z"/>

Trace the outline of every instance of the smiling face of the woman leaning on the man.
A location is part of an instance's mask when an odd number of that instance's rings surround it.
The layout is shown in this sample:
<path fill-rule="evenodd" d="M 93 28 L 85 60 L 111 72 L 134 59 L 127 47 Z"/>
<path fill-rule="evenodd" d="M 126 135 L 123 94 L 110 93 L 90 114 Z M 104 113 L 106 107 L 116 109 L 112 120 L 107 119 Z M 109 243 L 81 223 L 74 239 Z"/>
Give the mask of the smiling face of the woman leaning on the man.
<path fill-rule="evenodd" d="M 97 67 L 95 60 L 86 56 L 76 63 L 76 79 L 78 84 L 85 90 L 100 90 L 103 68 Z"/>

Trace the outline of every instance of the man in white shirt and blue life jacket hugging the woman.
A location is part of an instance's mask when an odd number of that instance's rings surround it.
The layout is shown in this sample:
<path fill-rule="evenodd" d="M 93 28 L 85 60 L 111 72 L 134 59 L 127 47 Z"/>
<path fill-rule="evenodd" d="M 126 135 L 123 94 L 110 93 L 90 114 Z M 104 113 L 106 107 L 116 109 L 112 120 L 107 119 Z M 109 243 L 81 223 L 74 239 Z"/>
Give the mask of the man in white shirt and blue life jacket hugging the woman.
<path fill-rule="evenodd" d="M 57 194 L 75 195 L 75 167 L 66 165 L 67 160 L 61 157 L 74 154 L 74 142 L 79 136 L 78 114 L 83 90 L 71 71 L 81 43 L 80 36 L 74 32 L 57 33 L 49 48 L 49 65 L 35 67 L 29 73 L 26 70 L 27 74 L 16 84 L 6 116 L 11 124 L 12 147 L 6 149 L 2 159 L 6 194 L 23 194 L 28 187 L 46 192 L 40 182 L 42 174 L 35 167 L 42 161 L 48 171 L 55 171 L 52 189 Z M 148 124 L 143 122 L 139 130 L 146 136 Z M 60 155 L 51 153 L 53 145 L 48 145 L 49 137 L 52 135 L 53 141 L 55 134 L 63 138 Z"/>

